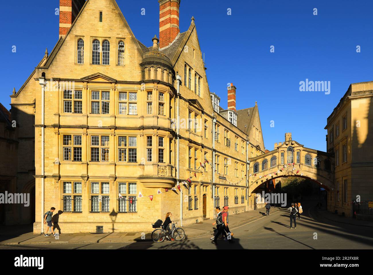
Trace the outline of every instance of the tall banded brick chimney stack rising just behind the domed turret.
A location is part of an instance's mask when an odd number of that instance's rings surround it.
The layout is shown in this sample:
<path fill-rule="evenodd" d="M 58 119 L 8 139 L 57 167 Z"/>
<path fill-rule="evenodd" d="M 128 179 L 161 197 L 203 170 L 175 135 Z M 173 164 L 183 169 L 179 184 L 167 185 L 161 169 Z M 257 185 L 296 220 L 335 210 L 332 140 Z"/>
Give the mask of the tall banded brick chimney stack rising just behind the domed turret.
<path fill-rule="evenodd" d="M 159 2 L 159 48 L 164 48 L 180 33 L 180 0 L 158 0 Z"/>

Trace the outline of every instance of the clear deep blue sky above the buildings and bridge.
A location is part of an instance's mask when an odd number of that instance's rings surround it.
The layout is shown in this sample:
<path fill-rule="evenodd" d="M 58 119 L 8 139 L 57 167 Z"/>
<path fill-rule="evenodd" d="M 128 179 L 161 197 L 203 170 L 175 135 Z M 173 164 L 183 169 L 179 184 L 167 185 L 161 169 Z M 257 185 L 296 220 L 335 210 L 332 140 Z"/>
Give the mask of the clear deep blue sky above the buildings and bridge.
<path fill-rule="evenodd" d="M 58 0 L 14 3 L 0 4 L 0 102 L 7 108 L 13 87 L 18 91 L 45 48 L 53 49 L 59 28 Z M 158 1 L 117 3 L 137 39 L 151 46 L 154 34 L 159 36 Z M 237 109 L 258 102 L 267 149 L 292 132 L 306 147 L 326 150 L 326 119 L 339 99 L 350 83 L 373 80 L 372 9 L 368 0 L 181 0 L 180 28 L 185 31 L 195 17 L 210 91 L 223 108 L 230 82 L 237 87 Z M 301 92 L 306 79 L 330 81 L 330 94 Z"/>

